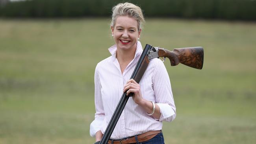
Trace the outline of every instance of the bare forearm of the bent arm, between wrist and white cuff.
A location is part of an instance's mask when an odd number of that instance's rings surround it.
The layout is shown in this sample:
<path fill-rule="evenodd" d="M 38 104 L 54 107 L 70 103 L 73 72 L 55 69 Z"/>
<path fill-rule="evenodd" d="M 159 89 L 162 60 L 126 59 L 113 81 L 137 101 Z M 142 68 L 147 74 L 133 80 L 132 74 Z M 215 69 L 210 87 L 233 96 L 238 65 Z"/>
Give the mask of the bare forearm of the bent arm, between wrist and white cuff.
<path fill-rule="evenodd" d="M 152 103 L 151 103 L 150 101 L 143 99 L 143 100 L 141 101 L 141 103 L 139 103 L 139 105 L 140 105 L 141 107 L 143 107 L 143 109 L 145 109 L 145 111 L 146 111 L 148 114 L 152 113 L 152 111 L 153 111 L 153 105 L 152 105 Z M 152 114 L 152 116 L 153 116 L 154 118 L 156 118 L 156 119 L 159 119 L 160 116 L 161 116 L 160 107 L 159 107 L 157 104 L 155 104 L 155 107 L 156 107 L 156 109 L 155 109 L 154 113 Z"/>

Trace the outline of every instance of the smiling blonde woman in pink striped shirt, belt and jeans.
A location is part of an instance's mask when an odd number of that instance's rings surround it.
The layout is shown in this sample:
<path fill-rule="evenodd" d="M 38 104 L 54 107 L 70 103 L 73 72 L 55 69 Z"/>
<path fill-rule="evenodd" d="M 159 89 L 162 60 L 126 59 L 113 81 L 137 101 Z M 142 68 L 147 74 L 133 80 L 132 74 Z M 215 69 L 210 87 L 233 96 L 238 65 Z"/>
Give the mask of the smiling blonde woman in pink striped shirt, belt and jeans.
<path fill-rule="evenodd" d="M 127 95 L 133 92 L 134 96 L 126 103 L 109 144 L 163 144 L 162 121 L 171 122 L 176 116 L 168 73 L 160 59 L 152 59 L 140 84 L 130 79 L 143 51 L 138 41 L 143 13 L 131 3 L 117 4 L 112 11 L 115 45 L 108 49 L 111 56 L 95 69 L 96 113 L 90 135 L 96 142 L 101 140 L 122 93 L 128 90 Z"/>

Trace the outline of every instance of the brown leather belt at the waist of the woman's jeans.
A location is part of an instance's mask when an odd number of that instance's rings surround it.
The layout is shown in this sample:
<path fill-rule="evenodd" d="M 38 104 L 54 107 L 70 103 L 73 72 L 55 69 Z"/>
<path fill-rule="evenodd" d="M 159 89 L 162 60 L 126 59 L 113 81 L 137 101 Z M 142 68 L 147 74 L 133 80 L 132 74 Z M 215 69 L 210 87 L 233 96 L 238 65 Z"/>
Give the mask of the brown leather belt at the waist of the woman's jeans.
<path fill-rule="evenodd" d="M 146 133 L 142 133 L 140 135 L 137 135 L 139 142 L 145 142 L 147 140 L 150 140 L 151 138 L 155 137 L 158 133 L 161 133 L 161 130 L 158 131 L 148 131 Z M 126 139 L 121 140 L 114 140 L 113 144 L 133 144 L 136 143 L 135 137 L 130 137 Z M 111 144 L 111 140 L 108 140 L 108 144 Z"/>

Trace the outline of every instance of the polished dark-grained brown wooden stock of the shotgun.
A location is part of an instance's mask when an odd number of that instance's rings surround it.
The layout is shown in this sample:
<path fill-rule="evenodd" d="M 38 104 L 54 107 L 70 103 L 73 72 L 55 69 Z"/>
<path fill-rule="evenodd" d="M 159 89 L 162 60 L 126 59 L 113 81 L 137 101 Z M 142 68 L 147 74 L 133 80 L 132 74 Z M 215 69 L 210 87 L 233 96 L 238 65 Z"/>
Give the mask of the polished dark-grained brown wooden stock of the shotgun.
<path fill-rule="evenodd" d="M 171 66 L 182 63 L 192 68 L 202 69 L 204 62 L 204 50 L 202 47 L 175 48 L 173 51 L 158 49 L 159 57 L 168 57 Z"/>

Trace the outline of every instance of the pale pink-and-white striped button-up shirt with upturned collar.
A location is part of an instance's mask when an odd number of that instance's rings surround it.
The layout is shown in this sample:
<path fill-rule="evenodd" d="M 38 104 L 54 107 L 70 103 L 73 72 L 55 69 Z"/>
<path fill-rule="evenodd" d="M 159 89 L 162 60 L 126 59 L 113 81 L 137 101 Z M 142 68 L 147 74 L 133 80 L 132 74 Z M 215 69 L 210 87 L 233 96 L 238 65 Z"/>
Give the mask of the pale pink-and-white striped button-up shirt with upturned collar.
<path fill-rule="evenodd" d="M 90 135 L 97 131 L 105 132 L 112 114 L 122 96 L 123 88 L 130 79 L 132 72 L 143 51 L 137 42 L 134 59 L 121 72 L 116 58 L 116 45 L 109 49 L 111 56 L 100 61 L 95 69 L 95 120 L 90 126 Z M 140 81 L 141 94 L 145 100 L 153 101 L 160 107 L 160 119 L 149 116 L 143 107 L 129 98 L 124 111 L 111 135 L 112 139 L 121 139 L 152 130 L 162 129 L 162 121 L 171 122 L 176 116 L 173 93 L 169 76 L 160 59 L 151 59 L 147 70 Z"/>

